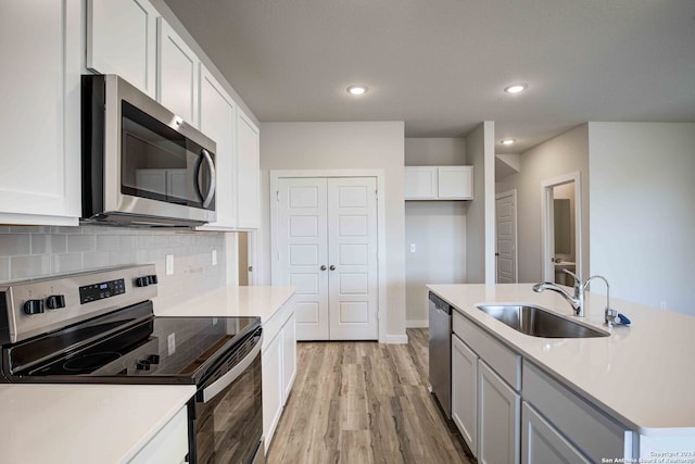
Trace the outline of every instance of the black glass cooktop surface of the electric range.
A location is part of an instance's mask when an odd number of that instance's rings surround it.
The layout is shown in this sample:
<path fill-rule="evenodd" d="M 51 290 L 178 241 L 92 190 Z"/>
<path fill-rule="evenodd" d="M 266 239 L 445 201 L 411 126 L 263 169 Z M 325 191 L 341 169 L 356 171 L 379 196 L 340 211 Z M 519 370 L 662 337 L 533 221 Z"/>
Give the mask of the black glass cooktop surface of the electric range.
<path fill-rule="evenodd" d="M 156 316 L 135 321 L 131 312 L 119 312 L 12 347 L 3 353 L 11 380 L 193 384 L 261 322 Z"/>

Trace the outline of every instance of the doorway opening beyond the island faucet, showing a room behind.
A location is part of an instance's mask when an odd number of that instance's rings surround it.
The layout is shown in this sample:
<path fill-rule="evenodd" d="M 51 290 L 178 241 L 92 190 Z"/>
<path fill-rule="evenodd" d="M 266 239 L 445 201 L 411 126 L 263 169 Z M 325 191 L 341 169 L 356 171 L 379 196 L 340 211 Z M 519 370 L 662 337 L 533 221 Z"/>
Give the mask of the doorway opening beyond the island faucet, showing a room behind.
<path fill-rule="evenodd" d="M 569 271 L 582 276 L 581 174 L 574 172 L 541 185 L 543 221 L 543 278 L 572 286 Z"/>

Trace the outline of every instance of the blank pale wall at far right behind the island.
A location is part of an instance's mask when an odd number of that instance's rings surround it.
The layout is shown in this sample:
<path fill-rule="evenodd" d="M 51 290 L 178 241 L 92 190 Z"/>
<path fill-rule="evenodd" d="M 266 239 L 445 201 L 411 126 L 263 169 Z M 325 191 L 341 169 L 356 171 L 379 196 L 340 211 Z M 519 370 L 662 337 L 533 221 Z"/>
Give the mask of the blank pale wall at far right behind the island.
<path fill-rule="evenodd" d="M 695 124 L 589 123 L 589 147 L 592 273 L 695 315 Z"/>

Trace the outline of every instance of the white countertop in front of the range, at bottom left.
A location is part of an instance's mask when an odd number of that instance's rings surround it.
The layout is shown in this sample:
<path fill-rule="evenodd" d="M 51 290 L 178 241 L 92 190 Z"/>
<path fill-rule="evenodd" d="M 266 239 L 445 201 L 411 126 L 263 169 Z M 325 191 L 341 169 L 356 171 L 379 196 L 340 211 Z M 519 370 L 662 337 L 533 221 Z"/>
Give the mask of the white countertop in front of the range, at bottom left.
<path fill-rule="evenodd" d="M 194 392 L 192 385 L 0 385 L 0 460 L 127 462 Z"/>

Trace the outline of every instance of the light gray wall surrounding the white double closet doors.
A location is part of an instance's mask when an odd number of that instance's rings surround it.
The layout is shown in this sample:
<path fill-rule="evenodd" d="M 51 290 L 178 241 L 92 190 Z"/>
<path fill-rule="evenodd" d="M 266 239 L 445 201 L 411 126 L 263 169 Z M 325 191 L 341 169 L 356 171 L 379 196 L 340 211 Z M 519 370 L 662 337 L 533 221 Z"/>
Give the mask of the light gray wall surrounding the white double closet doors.
<path fill-rule="evenodd" d="M 270 170 L 384 170 L 387 336 L 405 340 L 404 123 L 264 123 L 261 126 L 261 283 L 270 283 Z M 383 304 L 383 302 L 379 302 Z"/>

